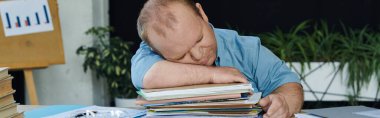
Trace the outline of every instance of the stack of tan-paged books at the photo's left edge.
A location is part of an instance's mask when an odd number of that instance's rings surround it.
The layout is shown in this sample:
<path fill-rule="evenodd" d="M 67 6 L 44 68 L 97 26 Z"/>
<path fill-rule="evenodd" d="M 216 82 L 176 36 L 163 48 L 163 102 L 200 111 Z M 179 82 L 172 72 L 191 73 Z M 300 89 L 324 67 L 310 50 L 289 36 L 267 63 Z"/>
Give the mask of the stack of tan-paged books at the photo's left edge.
<path fill-rule="evenodd" d="M 16 91 L 12 88 L 12 79 L 8 68 L 0 67 L 0 118 L 23 117 L 23 113 L 17 112 L 17 103 L 13 98 Z"/>

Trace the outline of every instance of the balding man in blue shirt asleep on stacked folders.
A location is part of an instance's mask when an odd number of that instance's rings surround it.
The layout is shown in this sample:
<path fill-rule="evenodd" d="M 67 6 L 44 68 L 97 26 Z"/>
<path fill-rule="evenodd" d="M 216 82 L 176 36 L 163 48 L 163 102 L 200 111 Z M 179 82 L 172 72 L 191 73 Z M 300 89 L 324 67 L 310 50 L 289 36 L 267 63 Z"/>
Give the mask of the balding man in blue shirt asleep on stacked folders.
<path fill-rule="evenodd" d="M 298 75 L 258 37 L 214 28 L 199 3 L 148 0 L 137 29 L 142 43 L 132 58 L 132 80 L 138 89 L 250 83 L 263 92 L 264 117 L 292 117 L 302 107 Z"/>

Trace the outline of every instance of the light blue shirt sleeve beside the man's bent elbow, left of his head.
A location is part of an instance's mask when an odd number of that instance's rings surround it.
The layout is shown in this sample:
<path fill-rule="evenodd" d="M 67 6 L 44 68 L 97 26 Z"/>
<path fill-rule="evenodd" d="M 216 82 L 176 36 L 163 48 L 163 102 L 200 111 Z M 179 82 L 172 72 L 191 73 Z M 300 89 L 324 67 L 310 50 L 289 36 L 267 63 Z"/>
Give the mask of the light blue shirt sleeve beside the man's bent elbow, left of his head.
<path fill-rule="evenodd" d="M 163 58 L 143 41 L 140 44 L 140 48 L 136 51 L 136 54 L 132 57 L 131 76 L 132 83 L 137 89 L 143 88 L 143 79 L 146 72 L 153 66 L 153 64 Z"/>

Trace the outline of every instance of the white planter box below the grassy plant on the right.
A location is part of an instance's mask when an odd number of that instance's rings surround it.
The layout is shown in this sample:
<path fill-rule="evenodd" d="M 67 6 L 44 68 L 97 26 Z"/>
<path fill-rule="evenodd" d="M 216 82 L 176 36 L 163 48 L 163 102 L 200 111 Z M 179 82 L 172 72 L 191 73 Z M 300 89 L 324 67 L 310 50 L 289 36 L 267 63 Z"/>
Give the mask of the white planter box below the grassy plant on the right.
<path fill-rule="evenodd" d="M 301 70 L 301 64 L 298 62 L 293 62 L 293 68 L 298 71 Z M 311 62 L 311 69 L 305 68 L 305 73 L 310 72 L 311 70 L 320 66 L 322 62 Z M 331 62 L 322 65 L 321 68 L 313 71 L 309 74 L 305 80 L 301 82 L 303 89 L 305 91 L 305 101 L 347 101 L 348 98 L 346 96 L 352 93 L 352 90 L 347 86 L 347 69 L 344 69 L 343 73 L 338 73 L 334 77 L 335 67 L 338 67 L 339 62 Z M 289 63 L 288 63 L 289 65 Z M 335 67 L 334 67 L 335 65 Z M 307 85 L 306 85 L 307 83 Z M 331 84 L 331 85 L 330 85 Z M 329 87 L 330 85 L 330 87 Z M 366 87 L 363 87 L 360 96 L 363 98 L 359 98 L 360 101 L 373 101 L 376 97 L 377 92 L 377 81 L 376 78 L 372 79 L 370 84 Z M 326 91 L 327 90 L 327 91 Z M 315 95 L 312 92 L 315 92 Z M 323 93 L 326 91 L 326 94 Z M 322 97 L 323 96 L 323 97 Z M 318 99 L 317 99 L 317 98 Z"/>

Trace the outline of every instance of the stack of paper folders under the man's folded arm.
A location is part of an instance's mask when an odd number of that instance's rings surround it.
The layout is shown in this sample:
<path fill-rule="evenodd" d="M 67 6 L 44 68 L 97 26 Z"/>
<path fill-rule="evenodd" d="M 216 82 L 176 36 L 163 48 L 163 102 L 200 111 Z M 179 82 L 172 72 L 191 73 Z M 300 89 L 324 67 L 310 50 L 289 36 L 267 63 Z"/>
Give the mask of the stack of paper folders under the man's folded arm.
<path fill-rule="evenodd" d="M 205 84 L 163 89 L 141 89 L 136 104 L 147 108 L 147 116 L 249 116 L 261 108 L 261 93 L 251 84 Z"/>

